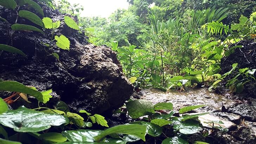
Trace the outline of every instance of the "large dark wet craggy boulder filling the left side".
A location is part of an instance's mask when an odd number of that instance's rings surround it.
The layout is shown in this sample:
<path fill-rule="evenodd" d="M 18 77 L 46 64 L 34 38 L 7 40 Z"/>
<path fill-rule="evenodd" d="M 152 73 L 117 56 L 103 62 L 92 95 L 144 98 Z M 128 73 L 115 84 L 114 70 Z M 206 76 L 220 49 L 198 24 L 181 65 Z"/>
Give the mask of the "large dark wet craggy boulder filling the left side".
<path fill-rule="evenodd" d="M 133 86 L 122 73 L 116 53 L 111 48 L 89 44 L 83 34 L 62 22 L 56 34 L 64 34 L 71 44 L 70 51 L 53 48 L 52 52 L 59 54 L 58 61 L 49 56 L 44 50 L 47 47 L 41 44 L 50 43 L 50 30 L 46 30 L 45 35 L 25 31 L 12 35 L 14 31 L 11 25 L 15 22 L 15 14 L 15 11 L 0 6 L 1 17 L 8 21 L 0 21 L 0 44 L 18 48 L 28 59 L 3 52 L 0 57 L 0 79 L 32 85 L 40 91 L 52 89 L 54 98 L 50 104 L 62 100 L 74 112 L 86 109 L 92 113 L 102 113 L 121 107 L 129 99 Z M 45 17 L 53 20 L 62 21 L 64 16 L 50 8 L 45 11 Z M 74 19 L 77 21 L 77 18 Z M 36 26 L 22 18 L 18 19 L 18 23 Z M 34 107 L 33 104 L 26 106 Z"/>

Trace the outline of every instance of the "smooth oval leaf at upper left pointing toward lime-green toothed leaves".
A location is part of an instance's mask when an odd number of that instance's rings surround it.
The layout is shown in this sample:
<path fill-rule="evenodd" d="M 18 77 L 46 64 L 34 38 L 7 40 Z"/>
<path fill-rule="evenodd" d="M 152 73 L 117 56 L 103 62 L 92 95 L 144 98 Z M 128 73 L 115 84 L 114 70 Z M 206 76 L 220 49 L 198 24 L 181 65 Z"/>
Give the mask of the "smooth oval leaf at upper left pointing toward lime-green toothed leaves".
<path fill-rule="evenodd" d="M 36 14 L 34 14 L 30 11 L 21 10 L 21 11 L 19 11 L 19 16 L 22 18 L 26 18 L 41 27 L 44 27 L 43 21 Z"/>

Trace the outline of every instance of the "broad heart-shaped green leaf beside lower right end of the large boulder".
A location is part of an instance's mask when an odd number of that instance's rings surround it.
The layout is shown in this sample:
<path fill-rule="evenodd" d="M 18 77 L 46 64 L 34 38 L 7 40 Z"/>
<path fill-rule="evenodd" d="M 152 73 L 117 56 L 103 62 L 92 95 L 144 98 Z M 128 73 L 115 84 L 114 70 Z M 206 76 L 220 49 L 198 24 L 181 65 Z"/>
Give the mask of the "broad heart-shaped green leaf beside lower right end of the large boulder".
<path fill-rule="evenodd" d="M 145 99 L 138 99 L 133 100 L 132 102 L 128 102 L 126 103 L 126 107 L 129 115 L 132 118 L 139 118 L 141 116 L 155 113 L 154 105 L 150 101 Z"/>

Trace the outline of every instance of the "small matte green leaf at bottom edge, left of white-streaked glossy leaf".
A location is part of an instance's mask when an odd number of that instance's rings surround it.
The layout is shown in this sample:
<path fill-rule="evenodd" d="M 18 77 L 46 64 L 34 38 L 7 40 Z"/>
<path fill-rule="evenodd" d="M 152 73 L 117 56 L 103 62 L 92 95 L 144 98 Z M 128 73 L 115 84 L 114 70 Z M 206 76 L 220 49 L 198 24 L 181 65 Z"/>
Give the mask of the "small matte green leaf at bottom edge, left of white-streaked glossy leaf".
<path fill-rule="evenodd" d="M 39 138 L 55 143 L 63 143 L 67 141 L 67 138 L 63 137 L 61 133 L 57 132 L 43 133 L 39 136 Z"/>

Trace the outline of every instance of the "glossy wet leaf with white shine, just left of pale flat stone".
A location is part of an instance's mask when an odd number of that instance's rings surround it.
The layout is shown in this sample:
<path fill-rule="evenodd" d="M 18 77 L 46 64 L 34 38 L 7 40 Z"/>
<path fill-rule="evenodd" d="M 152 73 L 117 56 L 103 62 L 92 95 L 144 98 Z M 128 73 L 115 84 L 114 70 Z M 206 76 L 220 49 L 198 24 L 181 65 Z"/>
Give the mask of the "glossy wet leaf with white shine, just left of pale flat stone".
<path fill-rule="evenodd" d="M 191 135 L 203 130 L 202 127 L 199 126 L 199 124 L 200 122 L 198 122 L 197 120 L 186 120 L 181 124 L 174 125 L 173 129 L 179 130 L 179 132 L 183 133 L 184 135 Z"/>

